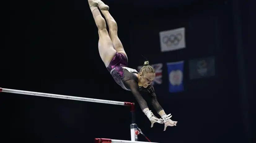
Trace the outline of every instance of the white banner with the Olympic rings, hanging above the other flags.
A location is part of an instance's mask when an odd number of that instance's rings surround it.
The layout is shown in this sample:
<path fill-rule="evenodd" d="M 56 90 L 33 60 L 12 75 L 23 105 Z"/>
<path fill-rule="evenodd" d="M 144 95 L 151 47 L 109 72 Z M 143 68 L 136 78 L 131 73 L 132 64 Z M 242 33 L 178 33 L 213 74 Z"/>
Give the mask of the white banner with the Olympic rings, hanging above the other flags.
<path fill-rule="evenodd" d="M 159 32 L 161 52 L 179 50 L 186 47 L 185 28 Z"/>

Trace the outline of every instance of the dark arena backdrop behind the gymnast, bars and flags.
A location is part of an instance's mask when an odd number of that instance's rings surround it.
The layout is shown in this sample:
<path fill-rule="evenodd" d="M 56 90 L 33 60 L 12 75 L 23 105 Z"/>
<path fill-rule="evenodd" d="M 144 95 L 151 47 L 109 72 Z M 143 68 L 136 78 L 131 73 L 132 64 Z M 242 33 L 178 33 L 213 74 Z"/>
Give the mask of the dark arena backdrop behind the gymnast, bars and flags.
<path fill-rule="evenodd" d="M 161 143 L 252 143 L 255 83 L 253 0 L 105 0 L 137 68 L 163 63 L 159 102 L 176 127 L 136 123 Z M 146 3 L 148 2 L 148 3 Z M 0 87 L 135 102 L 104 67 L 86 0 L 24 0 L 1 4 Z M 161 52 L 159 31 L 186 28 L 186 48 Z M 188 60 L 215 56 L 216 76 L 190 80 Z M 168 92 L 167 62 L 184 60 L 184 92 Z M 91 143 L 130 140 L 128 107 L 0 93 L 1 143 Z M 153 110 L 154 114 L 157 113 Z M 255 120 L 255 119 L 254 119 Z M 254 134 L 254 135 L 253 135 Z M 140 135 L 139 141 L 146 141 Z"/>

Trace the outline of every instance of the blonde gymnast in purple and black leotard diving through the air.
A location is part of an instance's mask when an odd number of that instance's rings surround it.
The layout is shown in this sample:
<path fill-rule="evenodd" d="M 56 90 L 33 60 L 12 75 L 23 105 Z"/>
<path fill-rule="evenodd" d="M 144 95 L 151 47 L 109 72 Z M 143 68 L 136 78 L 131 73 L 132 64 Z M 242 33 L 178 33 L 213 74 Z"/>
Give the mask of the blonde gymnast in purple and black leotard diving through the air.
<path fill-rule="evenodd" d="M 98 27 L 99 55 L 116 83 L 123 89 L 132 92 L 140 108 L 151 121 L 151 127 L 153 127 L 153 124 L 156 122 L 165 124 L 164 131 L 167 126 L 176 126 L 177 121 L 172 121 L 170 119 L 171 114 L 167 115 L 157 101 L 157 96 L 151 85 L 156 76 L 154 68 L 149 65 L 148 61 L 144 62 L 139 72 L 127 67 L 128 58 L 117 36 L 117 23 L 108 11 L 109 6 L 105 5 L 101 0 L 88 0 L 88 3 L 96 26 Z M 105 19 L 102 17 L 99 10 L 101 10 L 106 18 L 109 32 L 107 31 Z M 151 97 L 152 105 L 161 116 L 161 119 L 154 116 L 151 110 L 149 110 L 147 102 L 141 95 L 143 92 Z"/>

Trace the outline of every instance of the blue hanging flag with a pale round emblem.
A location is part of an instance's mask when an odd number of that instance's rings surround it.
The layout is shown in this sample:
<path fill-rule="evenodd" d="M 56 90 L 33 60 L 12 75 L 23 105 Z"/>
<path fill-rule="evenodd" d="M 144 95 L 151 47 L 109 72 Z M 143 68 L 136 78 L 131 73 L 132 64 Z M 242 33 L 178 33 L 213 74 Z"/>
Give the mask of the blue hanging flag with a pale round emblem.
<path fill-rule="evenodd" d="M 169 92 L 181 92 L 183 87 L 183 65 L 184 61 L 166 63 L 169 74 Z"/>

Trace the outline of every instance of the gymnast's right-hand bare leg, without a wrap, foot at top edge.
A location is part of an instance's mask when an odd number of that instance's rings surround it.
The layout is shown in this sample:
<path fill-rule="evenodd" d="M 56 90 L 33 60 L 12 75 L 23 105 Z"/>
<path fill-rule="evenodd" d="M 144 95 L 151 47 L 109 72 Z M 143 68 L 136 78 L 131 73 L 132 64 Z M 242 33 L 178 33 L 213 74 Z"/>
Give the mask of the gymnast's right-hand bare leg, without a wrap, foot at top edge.
<path fill-rule="evenodd" d="M 101 10 L 102 14 L 106 18 L 106 21 L 108 23 L 109 36 L 113 42 L 115 50 L 118 53 L 122 53 L 127 57 L 124 47 L 123 47 L 120 39 L 117 36 L 117 22 L 110 15 L 110 13 L 108 11 L 109 7 L 107 5 L 105 5 L 101 0 L 95 0 L 95 1 L 99 3 L 99 9 Z"/>

